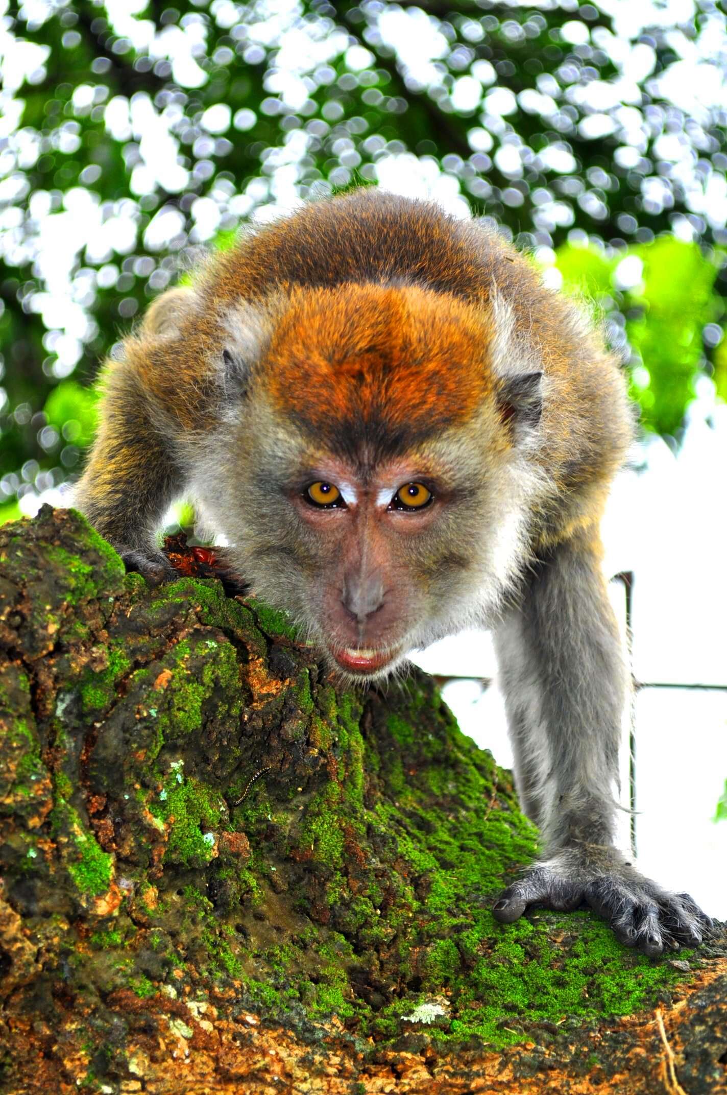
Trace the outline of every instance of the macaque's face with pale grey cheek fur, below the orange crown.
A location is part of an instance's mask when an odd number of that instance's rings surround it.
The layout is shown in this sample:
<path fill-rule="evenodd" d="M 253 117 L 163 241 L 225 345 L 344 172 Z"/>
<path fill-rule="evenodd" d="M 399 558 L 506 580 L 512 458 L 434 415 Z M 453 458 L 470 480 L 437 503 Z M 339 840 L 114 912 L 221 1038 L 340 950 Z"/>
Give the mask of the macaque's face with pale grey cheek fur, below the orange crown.
<path fill-rule="evenodd" d="M 218 463 L 230 480 L 207 495 L 214 522 L 253 591 L 290 613 L 339 677 L 382 678 L 412 649 L 488 621 L 524 527 L 484 416 L 468 437 L 459 428 L 383 459 L 365 445 L 351 459 L 269 407 L 253 414 L 255 433 Z M 235 448 L 246 451 L 232 463 Z"/>

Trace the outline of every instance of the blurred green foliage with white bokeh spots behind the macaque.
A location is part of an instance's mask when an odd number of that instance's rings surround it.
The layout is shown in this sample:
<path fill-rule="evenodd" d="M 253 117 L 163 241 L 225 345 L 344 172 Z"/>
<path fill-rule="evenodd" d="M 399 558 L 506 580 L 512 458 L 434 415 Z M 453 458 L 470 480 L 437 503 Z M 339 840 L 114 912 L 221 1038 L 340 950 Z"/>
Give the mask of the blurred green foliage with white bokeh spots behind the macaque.
<path fill-rule="evenodd" d="M 643 10 L 0 0 L 0 520 L 78 474 L 99 359 L 196 249 L 355 183 L 468 203 L 591 299 L 648 428 L 727 397 L 727 112 L 669 91 L 727 21 Z"/>

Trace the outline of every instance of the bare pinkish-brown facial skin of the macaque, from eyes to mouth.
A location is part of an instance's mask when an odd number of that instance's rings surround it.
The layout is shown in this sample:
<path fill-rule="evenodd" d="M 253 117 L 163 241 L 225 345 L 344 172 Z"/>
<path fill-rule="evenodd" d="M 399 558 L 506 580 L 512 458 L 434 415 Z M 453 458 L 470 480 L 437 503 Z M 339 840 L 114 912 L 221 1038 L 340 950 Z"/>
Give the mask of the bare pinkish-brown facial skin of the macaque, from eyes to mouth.
<path fill-rule="evenodd" d="M 367 474 L 328 458 L 318 461 L 312 481 L 309 474 L 288 493 L 301 541 L 313 548 L 309 607 L 338 671 L 381 676 L 431 615 L 429 572 L 432 556 L 442 562 L 438 527 L 452 487 L 414 461 L 389 461 Z"/>

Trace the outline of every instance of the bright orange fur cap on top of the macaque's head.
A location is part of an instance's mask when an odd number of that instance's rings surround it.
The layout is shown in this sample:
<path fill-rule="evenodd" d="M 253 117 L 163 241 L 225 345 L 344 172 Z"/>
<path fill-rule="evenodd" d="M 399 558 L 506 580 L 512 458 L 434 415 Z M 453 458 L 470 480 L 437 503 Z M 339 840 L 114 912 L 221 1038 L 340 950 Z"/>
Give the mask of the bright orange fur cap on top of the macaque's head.
<path fill-rule="evenodd" d="M 295 288 L 267 355 L 270 395 L 336 447 L 364 431 L 395 448 L 472 416 L 494 390 L 491 337 L 486 312 L 431 289 Z"/>

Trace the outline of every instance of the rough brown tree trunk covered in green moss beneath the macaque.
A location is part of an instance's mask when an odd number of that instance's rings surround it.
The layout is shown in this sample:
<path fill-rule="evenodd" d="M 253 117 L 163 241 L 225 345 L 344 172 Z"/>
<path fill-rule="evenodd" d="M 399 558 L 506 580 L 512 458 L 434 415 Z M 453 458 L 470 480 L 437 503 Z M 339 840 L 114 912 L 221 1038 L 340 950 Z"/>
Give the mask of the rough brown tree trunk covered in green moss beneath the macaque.
<path fill-rule="evenodd" d="M 219 580 L 0 529 L 0 1091 L 653 1092 L 669 1036 L 727 1091 L 723 947 L 495 923 L 534 835 L 424 676 L 336 691 Z"/>

